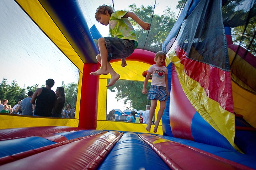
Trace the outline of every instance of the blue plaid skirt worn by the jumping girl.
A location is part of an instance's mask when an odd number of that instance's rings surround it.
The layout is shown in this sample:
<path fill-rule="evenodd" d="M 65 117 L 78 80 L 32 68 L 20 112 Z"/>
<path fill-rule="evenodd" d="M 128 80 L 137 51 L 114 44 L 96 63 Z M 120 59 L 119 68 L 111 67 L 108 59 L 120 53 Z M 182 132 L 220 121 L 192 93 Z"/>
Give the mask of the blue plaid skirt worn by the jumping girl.
<path fill-rule="evenodd" d="M 167 101 L 168 94 L 166 91 L 166 87 L 151 85 L 148 91 L 148 100 L 159 100 L 159 101 Z"/>

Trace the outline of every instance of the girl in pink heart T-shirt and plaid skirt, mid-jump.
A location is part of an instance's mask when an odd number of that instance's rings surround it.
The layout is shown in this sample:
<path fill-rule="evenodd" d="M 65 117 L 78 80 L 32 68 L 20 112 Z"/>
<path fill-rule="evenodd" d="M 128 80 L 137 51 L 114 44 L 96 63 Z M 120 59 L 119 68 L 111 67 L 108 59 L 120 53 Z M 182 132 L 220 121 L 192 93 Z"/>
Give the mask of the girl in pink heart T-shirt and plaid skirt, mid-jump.
<path fill-rule="evenodd" d="M 148 80 L 150 75 L 152 74 L 152 82 L 150 86 L 150 90 L 148 91 L 148 99 L 151 100 L 151 107 L 149 110 L 149 120 L 152 120 L 153 115 L 155 113 L 157 101 L 160 101 L 160 109 L 157 114 L 157 119 L 155 121 L 154 132 L 157 132 L 159 122 L 162 118 L 165 109 L 165 103 L 168 100 L 169 91 L 168 91 L 168 80 L 167 80 L 167 68 L 163 66 L 165 62 L 165 53 L 159 51 L 155 54 L 154 61 L 156 64 L 153 64 L 149 67 L 148 73 L 144 80 L 142 93 L 146 94 L 146 85 L 148 84 Z M 146 126 L 146 130 L 150 132 L 151 129 L 151 121 L 148 122 Z"/>

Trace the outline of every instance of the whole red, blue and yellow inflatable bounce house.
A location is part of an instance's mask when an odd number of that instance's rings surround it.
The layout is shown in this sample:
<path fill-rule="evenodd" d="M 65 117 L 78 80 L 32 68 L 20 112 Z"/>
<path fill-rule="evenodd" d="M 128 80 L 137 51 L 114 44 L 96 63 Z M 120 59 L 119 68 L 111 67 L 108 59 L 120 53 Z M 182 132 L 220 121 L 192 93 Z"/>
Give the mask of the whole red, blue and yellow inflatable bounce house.
<path fill-rule="evenodd" d="M 100 67 L 100 34 L 76 0 L 15 1 L 80 76 L 74 119 L 0 114 L 1 170 L 256 169 L 256 58 L 230 31 L 255 19 L 255 0 L 187 1 L 162 45 L 170 96 L 157 134 L 106 120 L 110 75 L 89 75 Z M 112 66 L 144 81 L 154 55 L 136 49 L 126 68 Z"/>

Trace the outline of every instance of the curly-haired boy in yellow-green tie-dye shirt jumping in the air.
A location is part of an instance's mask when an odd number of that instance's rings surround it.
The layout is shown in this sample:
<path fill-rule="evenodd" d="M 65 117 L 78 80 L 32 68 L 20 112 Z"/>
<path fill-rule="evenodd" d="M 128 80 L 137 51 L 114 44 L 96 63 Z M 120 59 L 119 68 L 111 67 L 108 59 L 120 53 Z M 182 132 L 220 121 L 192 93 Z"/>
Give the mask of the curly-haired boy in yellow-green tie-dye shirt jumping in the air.
<path fill-rule="evenodd" d="M 136 21 L 143 29 L 149 30 L 150 25 L 142 21 L 135 13 L 128 11 L 113 11 L 112 6 L 101 5 L 97 8 L 95 13 L 96 20 L 110 28 L 111 37 L 99 38 L 98 46 L 100 54 L 96 59 L 101 63 L 101 68 L 90 75 L 107 75 L 110 73 L 111 79 L 107 87 L 116 83 L 120 78 L 109 63 L 111 59 L 121 59 L 121 66 L 126 67 L 125 58 L 130 56 L 134 49 L 138 46 L 137 36 L 135 30 L 130 23 L 128 17 Z"/>

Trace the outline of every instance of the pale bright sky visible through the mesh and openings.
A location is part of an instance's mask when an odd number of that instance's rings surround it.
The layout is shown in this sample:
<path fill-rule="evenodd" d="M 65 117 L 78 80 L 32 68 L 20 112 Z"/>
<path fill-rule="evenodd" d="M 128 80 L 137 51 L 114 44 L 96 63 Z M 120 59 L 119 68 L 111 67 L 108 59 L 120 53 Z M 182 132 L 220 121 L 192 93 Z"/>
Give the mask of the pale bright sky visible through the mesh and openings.
<path fill-rule="evenodd" d="M 108 36 L 109 29 L 95 20 L 95 12 L 100 5 L 112 5 L 112 0 L 78 0 L 86 18 L 88 27 L 95 24 L 101 35 Z M 115 10 L 128 9 L 128 5 L 137 7 L 154 6 L 154 0 L 114 0 Z M 154 14 L 161 15 L 168 7 L 178 14 L 178 0 L 156 1 Z M 88 10 L 90 9 L 90 11 Z M 20 87 L 38 84 L 45 85 L 49 78 L 54 79 L 52 90 L 64 84 L 78 82 L 79 70 L 67 57 L 50 41 L 46 35 L 33 23 L 26 13 L 14 0 L 0 0 L 0 79 L 17 81 Z M 117 108 L 124 111 L 129 104 L 117 102 L 114 93 L 108 92 L 107 113 Z M 111 102 L 110 102 L 111 101 Z"/>

